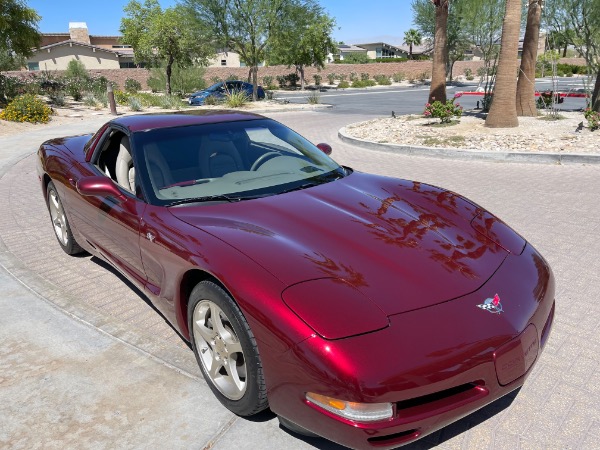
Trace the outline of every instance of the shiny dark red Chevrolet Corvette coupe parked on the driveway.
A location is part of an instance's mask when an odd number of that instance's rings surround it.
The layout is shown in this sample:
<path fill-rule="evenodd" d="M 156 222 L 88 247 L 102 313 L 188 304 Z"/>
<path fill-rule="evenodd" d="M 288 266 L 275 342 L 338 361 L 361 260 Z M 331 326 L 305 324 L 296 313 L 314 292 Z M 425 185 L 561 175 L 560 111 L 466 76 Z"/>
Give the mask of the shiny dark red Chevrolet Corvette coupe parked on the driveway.
<path fill-rule="evenodd" d="M 138 286 L 223 405 L 395 448 L 524 383 L 554 277 L 466 198 L 330 153 L 274 120 L 211 111 L 120 117 L 43 143 L 37 163 L 63 250 Z"/>

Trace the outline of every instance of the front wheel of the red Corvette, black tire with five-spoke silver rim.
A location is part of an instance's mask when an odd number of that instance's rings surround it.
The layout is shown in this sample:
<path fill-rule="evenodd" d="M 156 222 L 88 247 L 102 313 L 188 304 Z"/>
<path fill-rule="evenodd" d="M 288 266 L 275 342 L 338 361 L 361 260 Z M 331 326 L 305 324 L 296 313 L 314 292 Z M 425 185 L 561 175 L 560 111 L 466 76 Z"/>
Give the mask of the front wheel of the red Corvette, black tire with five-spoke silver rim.
<path fill-rule="evenodd" d="M 267 389 L 256 340 L 233 299 L 212 281 L 202 281 L 188 303 L 190 341 L 208 386 L 240 416 L 266 409 Z"/>

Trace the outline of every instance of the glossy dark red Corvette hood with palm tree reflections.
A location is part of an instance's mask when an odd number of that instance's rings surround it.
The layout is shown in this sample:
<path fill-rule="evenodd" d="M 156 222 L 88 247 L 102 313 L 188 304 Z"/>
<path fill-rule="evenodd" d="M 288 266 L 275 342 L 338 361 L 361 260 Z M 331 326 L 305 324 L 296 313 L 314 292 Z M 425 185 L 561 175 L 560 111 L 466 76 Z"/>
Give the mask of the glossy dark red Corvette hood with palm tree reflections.
<path fill-rule="evenodd" d="M 170 212 L 288 286 L 341 279 L 387 315 L 477 290 L 508 254 L 471 225 L 482 210 L 459 195 L 357 172 L 286 194 Z"/>

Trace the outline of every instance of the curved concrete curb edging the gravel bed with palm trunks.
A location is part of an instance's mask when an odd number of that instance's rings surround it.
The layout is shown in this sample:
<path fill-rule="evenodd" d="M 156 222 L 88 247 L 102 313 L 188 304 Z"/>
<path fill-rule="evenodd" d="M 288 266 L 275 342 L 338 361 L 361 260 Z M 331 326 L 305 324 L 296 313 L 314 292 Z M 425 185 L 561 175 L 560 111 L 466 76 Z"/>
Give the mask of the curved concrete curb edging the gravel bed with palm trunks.
<path fill-rule="evenodd" d="M 421 147 L 418 145 L 384 144 L 352 137 L 346 127 L 340 128 L 338 137 L 357 147 L 369 150 L 397 153 L 425 158 L 458 159 L 466 161 L 492 161 L 532 164 L 600 164 L 600 154 L 576 153 L 526 153 L 526 152 L 479 152 L 459 148 Z"/>

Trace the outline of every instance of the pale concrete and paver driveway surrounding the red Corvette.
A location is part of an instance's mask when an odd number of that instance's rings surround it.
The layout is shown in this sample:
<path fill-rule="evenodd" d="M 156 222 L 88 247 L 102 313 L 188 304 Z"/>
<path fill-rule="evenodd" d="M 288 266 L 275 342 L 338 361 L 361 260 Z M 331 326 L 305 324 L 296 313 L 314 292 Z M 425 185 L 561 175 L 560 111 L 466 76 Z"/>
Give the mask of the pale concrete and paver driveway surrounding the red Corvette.
<path fill-rule="evenodd" d="M 553 333 L 525 386 L 408 449 L 600 448 L 600 166 L 398 156 L 344 144 L 355 114 L 273 113 L 357 170 L 460 192 L 498 214 L 554 269 Z M 191 350 L 114 271 L 55 242 L 35 176 L 46 138 L 104 120 L 0 138 L 0 447 L 340 448 L 266 412 L 237 418 Z"/>

